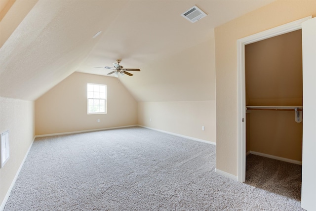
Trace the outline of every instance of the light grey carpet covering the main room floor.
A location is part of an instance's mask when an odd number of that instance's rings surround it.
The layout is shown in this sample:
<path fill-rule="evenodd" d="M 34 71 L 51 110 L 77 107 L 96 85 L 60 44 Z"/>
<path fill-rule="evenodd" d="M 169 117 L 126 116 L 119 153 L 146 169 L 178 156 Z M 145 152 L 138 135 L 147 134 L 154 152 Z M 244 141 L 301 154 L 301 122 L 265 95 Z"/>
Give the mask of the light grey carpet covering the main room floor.
<path fill-rule="evenodd" d="M 37 138 L 4 211 L 301 210 L 214 168 L 214 145 L 141 127 Z"/>

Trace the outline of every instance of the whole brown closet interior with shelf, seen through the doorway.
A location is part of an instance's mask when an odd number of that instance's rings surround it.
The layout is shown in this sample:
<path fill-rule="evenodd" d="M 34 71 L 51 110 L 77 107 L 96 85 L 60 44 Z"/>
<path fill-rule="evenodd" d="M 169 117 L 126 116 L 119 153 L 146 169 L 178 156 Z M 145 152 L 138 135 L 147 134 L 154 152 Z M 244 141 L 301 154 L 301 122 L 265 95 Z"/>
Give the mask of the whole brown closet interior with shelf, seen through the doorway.
<path fill-rule="evenodd" d="M 297 190 L 277 191 L 283 195 L 299 191 L 300 195 L 303 135 L 301 30 L 245 45 L 245 64 L 246 183 L 248 180 L 261 184 L 263 189 L 265 186 L 286 189 L 293 184 Z M 279 163 L 269 163 L 276 160 Z M 272 168 L 272 165 L 276 167 Z M 265 172 L 271 170 L 274 172 Z M 282 182 L 282 187 L 277 186 Z"/>

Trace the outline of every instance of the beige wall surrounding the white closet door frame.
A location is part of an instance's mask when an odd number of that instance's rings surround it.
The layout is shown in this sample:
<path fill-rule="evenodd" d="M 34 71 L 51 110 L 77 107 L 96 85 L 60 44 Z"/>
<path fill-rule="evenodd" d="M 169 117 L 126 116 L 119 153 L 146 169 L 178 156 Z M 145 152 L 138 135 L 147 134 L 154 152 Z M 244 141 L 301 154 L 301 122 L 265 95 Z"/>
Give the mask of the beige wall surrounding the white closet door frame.
<path fill-rule="evenodd" d="M 237 175 L 237 40 L 309 15 L 315 0 L 276 1 L 215 28 L 217 169 Z"/>

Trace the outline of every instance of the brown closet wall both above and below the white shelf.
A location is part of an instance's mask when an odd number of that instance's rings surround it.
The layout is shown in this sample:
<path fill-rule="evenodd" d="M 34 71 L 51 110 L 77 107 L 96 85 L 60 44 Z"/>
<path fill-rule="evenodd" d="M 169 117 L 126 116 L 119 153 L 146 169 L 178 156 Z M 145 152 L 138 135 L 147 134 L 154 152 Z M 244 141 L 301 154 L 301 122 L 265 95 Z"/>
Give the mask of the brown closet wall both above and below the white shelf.
<path fill-rule="evenodd" d="M 302 106 L 302 32 L 245 46 L 246 105 Z M 302 123 L 294 111 L 246 114 L 246 151 L 302 161 Z"/>

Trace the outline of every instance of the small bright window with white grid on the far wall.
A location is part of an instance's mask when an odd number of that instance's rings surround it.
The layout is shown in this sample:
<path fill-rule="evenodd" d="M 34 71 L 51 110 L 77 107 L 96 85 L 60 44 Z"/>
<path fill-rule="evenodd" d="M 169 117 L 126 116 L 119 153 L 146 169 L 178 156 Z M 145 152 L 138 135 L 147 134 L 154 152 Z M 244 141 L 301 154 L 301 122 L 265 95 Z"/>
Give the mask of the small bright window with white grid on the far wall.
<path fill-rule="evenodd" d="M 107 85 L 88 84 L 88 114 L 106 114 Z"/>

